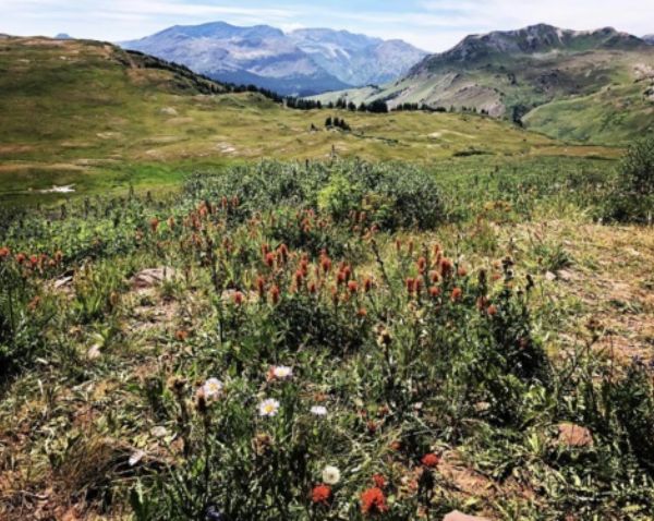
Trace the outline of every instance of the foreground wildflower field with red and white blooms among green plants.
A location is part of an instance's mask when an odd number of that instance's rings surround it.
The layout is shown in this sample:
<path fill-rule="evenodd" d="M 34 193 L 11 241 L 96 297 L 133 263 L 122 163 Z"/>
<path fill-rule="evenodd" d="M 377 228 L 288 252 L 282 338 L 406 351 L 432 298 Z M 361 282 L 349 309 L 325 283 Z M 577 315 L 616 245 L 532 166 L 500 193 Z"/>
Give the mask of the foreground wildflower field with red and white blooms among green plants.
<path fill-rule="evenodd" d="M 0 518 L 653 519 L 652 199 L 458 165 L 3 215 Z"/>

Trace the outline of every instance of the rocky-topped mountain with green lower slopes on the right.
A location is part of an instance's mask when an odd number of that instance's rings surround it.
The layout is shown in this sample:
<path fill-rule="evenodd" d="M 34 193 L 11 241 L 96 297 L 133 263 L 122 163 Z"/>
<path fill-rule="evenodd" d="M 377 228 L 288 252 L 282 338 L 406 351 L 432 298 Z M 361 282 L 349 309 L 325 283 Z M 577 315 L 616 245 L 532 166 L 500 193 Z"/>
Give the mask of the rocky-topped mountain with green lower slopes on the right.
<path fill-rule="evenodd" d="M 473 110 L 559 138 L 610 141 L 654 129 L 654 47 L 610 27 L 471 35 L 396 82 L 318 97 L 339 98 Z"/>

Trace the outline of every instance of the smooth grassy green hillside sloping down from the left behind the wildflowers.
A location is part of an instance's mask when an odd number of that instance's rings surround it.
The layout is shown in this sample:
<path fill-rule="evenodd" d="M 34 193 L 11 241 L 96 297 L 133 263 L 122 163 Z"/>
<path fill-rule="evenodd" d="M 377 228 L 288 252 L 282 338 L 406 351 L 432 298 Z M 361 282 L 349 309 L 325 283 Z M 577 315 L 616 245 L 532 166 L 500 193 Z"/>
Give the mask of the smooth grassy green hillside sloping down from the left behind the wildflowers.
<path fill-rule="evenodd" d="M 0 46 L 0 197 L 177 185 L 202 165 L 270 158 L 427 162 L 469 154 L 608 155 L 568 148 L 489 118 L 287 109 L 109 44 L 9 38 Z M 351 132 L 325 129 L 328 116 Z M 313 125 L 313 126 L 312 126 Z"/>

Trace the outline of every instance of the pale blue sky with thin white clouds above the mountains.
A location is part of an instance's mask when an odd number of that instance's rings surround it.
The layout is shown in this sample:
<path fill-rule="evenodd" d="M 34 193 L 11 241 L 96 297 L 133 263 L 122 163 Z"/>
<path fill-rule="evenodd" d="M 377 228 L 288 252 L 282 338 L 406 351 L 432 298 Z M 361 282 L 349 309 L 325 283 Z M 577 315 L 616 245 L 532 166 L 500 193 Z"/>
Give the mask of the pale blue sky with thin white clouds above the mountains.
<path fill-rule="evenodd" d="M 446 50 L 469 34 L 536 23 L 654 33 L 654 0 L 0 0 L 0 33 L 122 41 L 223 21 L 283 31 L 329 27 Z"/>

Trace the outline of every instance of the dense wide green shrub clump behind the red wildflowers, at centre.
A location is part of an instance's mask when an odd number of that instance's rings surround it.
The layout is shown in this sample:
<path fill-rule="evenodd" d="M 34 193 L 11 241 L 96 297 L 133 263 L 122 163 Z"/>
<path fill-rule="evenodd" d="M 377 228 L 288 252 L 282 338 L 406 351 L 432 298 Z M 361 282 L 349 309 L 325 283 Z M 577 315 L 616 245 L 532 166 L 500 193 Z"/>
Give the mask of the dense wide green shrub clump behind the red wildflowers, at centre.
<path fill-rule="evenodd" d="M 238 199 L 234 218 L 277 207 L 320 209 L 336 222 L 364 214 L 384 230 L 433 229 L 445 219 L 440 189 L 424 170 L 399 163 L 362 161 L 237 167 L 220 174 L 198 173 L 186 193 L 205 199 Z"/>

